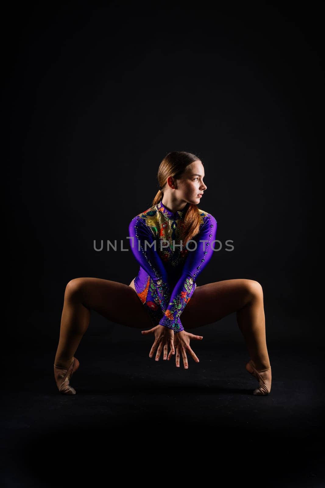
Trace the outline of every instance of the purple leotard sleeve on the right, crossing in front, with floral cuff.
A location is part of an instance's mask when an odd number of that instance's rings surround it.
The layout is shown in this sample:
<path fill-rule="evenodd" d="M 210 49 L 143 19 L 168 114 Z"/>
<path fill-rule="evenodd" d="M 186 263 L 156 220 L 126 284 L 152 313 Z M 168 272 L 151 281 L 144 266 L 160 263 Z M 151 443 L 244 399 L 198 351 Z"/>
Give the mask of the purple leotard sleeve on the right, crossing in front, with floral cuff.
<path fill-rule="evenodd" d="M 211 214 L 208 214 L 204 218 L 199 233 L 193 239 L 197 245 L 196 249 L 189 250 L 182 275 L 172 290 L 170 303 L 164 311 L 164 316 L 159 322 L 160 325 L 173 328 L 174 332 L 184 330 L 180 315 L 195 290 L 194 283 L 197 276 L 211 259 L 213 253 L 211 242 L 215 240 L 216 231 L 217 222 Z M 193 245 L 193 243 L 191 244 Z"/>

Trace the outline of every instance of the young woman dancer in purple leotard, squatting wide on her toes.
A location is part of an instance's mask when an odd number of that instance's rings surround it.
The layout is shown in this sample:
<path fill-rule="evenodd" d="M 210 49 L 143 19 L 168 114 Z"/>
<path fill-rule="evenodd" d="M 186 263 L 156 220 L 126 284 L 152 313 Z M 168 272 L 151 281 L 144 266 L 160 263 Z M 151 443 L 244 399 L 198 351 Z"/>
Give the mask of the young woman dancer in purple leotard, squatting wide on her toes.
<path fill-rule="evenodd" d="M 149 357 L 169 360 L 188 368 L 187 353 L 199 362 L 190 341 L 202 336 L 188 329 L 217 322 L 236 312 L 238 326 L 248 347 L 247 371 L 259 382 L 255 395 L 271 390 L 271 366 L 266 344 L 261 285 L 234 279 L 197 286 L 196 278 L 214 250 L 217 223 L 197 207 L 207 186 L 204 166 L 194 154 L 169 153 L 160 163 L 160 189 L 152 206 L 137 214 L 129 225 L 131 249 L 140 264 L 130 285 L 98 278 L 76 278 L 65 290 L 60 337 L 54 362 L 57 387 L 74 395 L 70 379 L 79 367 L 74 354 L 88 328 L 90 310 L 130 327 L 153 327 Z M 135 318 L 135 319 L 134 319 Z M 170 347 L 170 351 L 168 348 Z"/>

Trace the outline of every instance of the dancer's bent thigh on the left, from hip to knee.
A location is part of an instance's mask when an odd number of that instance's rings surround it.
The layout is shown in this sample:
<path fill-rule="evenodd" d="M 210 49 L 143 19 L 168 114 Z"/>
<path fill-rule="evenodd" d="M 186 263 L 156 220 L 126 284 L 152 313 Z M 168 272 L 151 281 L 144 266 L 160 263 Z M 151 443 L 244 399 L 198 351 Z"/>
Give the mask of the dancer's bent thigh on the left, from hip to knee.
<path fill-rule="evenodd" d="M 153 327 L 136 291 L 123 283 L 101 278 L 75 278 L 67 284 L 65 298 L 76 298 L 86 308 L 116 324 L 142 329 Z"/>

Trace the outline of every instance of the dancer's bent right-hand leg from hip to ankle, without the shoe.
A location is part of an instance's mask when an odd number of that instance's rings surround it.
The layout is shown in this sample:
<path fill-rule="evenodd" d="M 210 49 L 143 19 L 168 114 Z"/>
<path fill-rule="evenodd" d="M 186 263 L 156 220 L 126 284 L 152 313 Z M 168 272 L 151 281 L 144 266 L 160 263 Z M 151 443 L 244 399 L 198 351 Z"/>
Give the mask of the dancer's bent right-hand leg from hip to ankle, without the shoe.
<path fill-rule="evenodd" d="M 237 279 L 197 286 L 182 312 L 182 324 L 185 330 L 201 327 L 233 312 L 255 367 L 268 368 L 263 290 L 258 282 Z"/>

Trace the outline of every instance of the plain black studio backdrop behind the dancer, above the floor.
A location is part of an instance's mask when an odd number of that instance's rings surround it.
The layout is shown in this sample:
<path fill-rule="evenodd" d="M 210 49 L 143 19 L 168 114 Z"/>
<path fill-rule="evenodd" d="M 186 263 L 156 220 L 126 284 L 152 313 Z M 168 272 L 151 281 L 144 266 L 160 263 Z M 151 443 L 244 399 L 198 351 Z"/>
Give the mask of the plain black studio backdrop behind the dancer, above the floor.
<path fill-rule="evenodd" d="M 159 163 L 184 150 L 205 166 L 198 206 L 216 218 L 223 244 L 198 285 L 258 281 L 269 343 L 285 345 L 287 364 L 291 354 L 304 361 L 294 341 L 319 356 L 320 4 L 32 2 L 6 7 L 3 24 L 4 354 L 12 357 L 10 345 L 45 351 L 52 365 L 71 279 L 129 285 L 132 253 L 96 252 L 94 240 L 127 248 L 129 222 L 156 194 Z M 201 332 L 245 357 L 235 316 Z M 94 312 L 80 351 L 122 351 L 128 341 L 145 358 L 150 341 L 139 329 Z"/>

